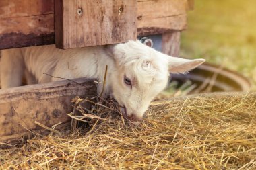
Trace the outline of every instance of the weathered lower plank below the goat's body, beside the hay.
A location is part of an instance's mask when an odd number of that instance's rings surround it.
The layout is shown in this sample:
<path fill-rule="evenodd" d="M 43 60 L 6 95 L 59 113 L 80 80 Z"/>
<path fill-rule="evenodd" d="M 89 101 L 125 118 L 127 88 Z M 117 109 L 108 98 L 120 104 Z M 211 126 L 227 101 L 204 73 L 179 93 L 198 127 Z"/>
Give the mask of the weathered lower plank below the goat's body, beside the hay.
<path fill-rule="evenodd" d="M 94 97 L 92 80 L 75 79 L 0 90 L 0 142 L 12 134 L 36 130 L 40 122 L 52 126 L 70 120 L 71 99 L 76 96 Z"/>

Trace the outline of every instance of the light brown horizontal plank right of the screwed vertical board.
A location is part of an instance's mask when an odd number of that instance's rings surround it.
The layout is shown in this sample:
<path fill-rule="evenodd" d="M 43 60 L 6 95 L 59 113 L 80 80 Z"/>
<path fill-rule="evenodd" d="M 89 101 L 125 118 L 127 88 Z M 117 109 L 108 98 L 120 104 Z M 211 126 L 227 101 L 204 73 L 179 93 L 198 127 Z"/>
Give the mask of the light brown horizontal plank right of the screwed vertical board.
<path fill-rule="evenodd" d="M 187 0 L 138 0 L 138 35 L 162 34 L 187 27 Z"/>

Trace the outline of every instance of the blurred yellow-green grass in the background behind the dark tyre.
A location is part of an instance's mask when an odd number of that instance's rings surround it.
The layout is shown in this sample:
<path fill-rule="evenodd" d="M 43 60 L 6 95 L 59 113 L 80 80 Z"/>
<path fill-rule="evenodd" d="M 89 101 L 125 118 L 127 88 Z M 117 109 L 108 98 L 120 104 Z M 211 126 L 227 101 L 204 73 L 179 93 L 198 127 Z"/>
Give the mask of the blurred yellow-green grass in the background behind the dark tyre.
<path fill-rule="evenodd" d="M 181 56 L 238 71 L 256 89 L 256 0 L 195 0 L 181 35 Z"/>

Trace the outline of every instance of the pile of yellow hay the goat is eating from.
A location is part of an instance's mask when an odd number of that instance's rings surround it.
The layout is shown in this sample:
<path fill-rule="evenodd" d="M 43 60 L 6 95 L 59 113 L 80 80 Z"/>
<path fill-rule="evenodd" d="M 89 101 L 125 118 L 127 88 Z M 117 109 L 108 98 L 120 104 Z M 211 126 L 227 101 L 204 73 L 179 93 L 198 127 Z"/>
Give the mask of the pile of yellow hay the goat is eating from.
<path fill-rule="evenodd" d="M 256 169 L 256 93 L 155 101 L 136 126 L 112 115 L 2 149 L 0 167 Z"/>

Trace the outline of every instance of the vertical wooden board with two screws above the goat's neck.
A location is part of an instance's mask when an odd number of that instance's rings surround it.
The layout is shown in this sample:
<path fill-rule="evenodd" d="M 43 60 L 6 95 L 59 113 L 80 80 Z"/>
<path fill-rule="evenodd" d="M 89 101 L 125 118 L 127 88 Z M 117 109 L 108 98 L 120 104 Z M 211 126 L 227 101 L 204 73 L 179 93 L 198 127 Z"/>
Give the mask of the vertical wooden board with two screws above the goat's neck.
<path fill-rule="evenodd" d="M 135 40 L 136 5 L 136 0 L 55 0 L 57 48 L 78 48 Z"/>

